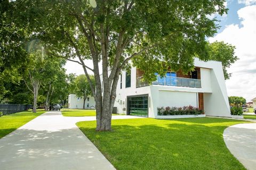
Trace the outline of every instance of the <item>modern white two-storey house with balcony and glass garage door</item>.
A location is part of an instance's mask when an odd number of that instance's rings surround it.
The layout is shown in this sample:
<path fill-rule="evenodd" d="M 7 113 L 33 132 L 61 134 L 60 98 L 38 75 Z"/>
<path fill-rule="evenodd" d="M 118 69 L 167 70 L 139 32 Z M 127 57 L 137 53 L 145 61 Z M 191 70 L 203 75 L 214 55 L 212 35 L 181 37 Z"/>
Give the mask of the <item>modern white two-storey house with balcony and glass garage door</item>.
<path fill-rule="evenodd" d="M 191 105 L 203 109 L 206 116 L 231 117 L 221 62 L 195 58 L 194 65 L 195 71 L 188 75 L 168 71 L 161 78 L 156 73 L 151 85 L 141 81 L 143 72 L 136 67 L 130 74 L 122 71 L 114 105 L 117 113 L 157 118 L 157 107 Z"/>

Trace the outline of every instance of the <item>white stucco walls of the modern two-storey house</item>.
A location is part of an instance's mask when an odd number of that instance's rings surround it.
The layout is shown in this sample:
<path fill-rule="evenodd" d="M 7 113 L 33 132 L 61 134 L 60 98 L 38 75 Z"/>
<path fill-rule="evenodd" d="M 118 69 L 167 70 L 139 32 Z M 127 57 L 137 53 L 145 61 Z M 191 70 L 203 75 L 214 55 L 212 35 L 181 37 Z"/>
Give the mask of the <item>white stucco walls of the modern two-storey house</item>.
<path fill-rule="evenodd" d="M 171 87 L 151 85 L 136 88 L 136 68 L 131 69 L 131 87 L 125 88 L 125 71 L 122 71 L 122 89 L 120 77 L 117 84 L 115 107 L 117 113 L 126 114 L 127 96 L 148 95 L 149 117 L 156 117 L 157 107 L 188 106 L 198 107 L 198 92 L 204 94 L 206 115 L 230 117 L 227 89 L 221 62 L 203 62 L 195 58 L 195 66 L 201 67 L 202 88 Z"/>

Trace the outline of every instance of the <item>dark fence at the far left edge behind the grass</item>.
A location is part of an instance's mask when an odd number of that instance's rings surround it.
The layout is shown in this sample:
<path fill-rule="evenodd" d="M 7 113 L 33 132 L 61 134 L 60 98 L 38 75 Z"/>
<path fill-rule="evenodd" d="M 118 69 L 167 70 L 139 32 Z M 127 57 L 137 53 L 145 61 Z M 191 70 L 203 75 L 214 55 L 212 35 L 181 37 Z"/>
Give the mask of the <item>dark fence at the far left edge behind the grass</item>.
<path fill-rule="evenodd" d="M 28 109 L 30 109 L 32 107 L 33 107 L 33 105 L 0 104 L 0 112 L 3 112 L 3 115 L 9 115 L 12 113 L 27 111 Z"/>

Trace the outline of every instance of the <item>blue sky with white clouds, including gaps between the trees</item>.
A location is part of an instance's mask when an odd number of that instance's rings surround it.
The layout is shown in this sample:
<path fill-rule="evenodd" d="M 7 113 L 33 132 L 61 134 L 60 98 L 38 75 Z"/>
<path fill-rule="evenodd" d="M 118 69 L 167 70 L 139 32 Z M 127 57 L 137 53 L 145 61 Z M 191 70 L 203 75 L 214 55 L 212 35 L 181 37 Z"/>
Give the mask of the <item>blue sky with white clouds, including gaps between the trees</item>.
<path fill-rule="evenodd" d="M 224 41 L 236 47 L 239 60 L 228 69 L 232 76 L 226 80 L 228 96 L 242 96 L 247 102 L 256 97 L 256 0 L 228 0 L 225 15 L 211 15 L 220 21 L 220 29 L 210 43 Z M 85 61 L 92 66 L 92 61 Z M 67 73 L 84 74 L 81 65 L 67 62 Z M 92 72 L 91 72 L 92 74 Z"/>

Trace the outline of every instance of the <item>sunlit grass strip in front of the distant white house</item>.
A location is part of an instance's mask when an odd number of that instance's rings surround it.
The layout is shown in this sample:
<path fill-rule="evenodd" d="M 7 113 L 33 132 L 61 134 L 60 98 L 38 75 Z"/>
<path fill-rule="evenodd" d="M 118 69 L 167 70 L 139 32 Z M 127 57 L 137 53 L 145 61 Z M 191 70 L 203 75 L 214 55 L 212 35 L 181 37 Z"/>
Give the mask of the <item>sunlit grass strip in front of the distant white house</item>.
<path fill-rule="evenodd" d="M 94 109 L 61 109 L 63 116 L 96 116 L 96 111 Z M 120 114 L 112 114 L 120 115 Z"/>

